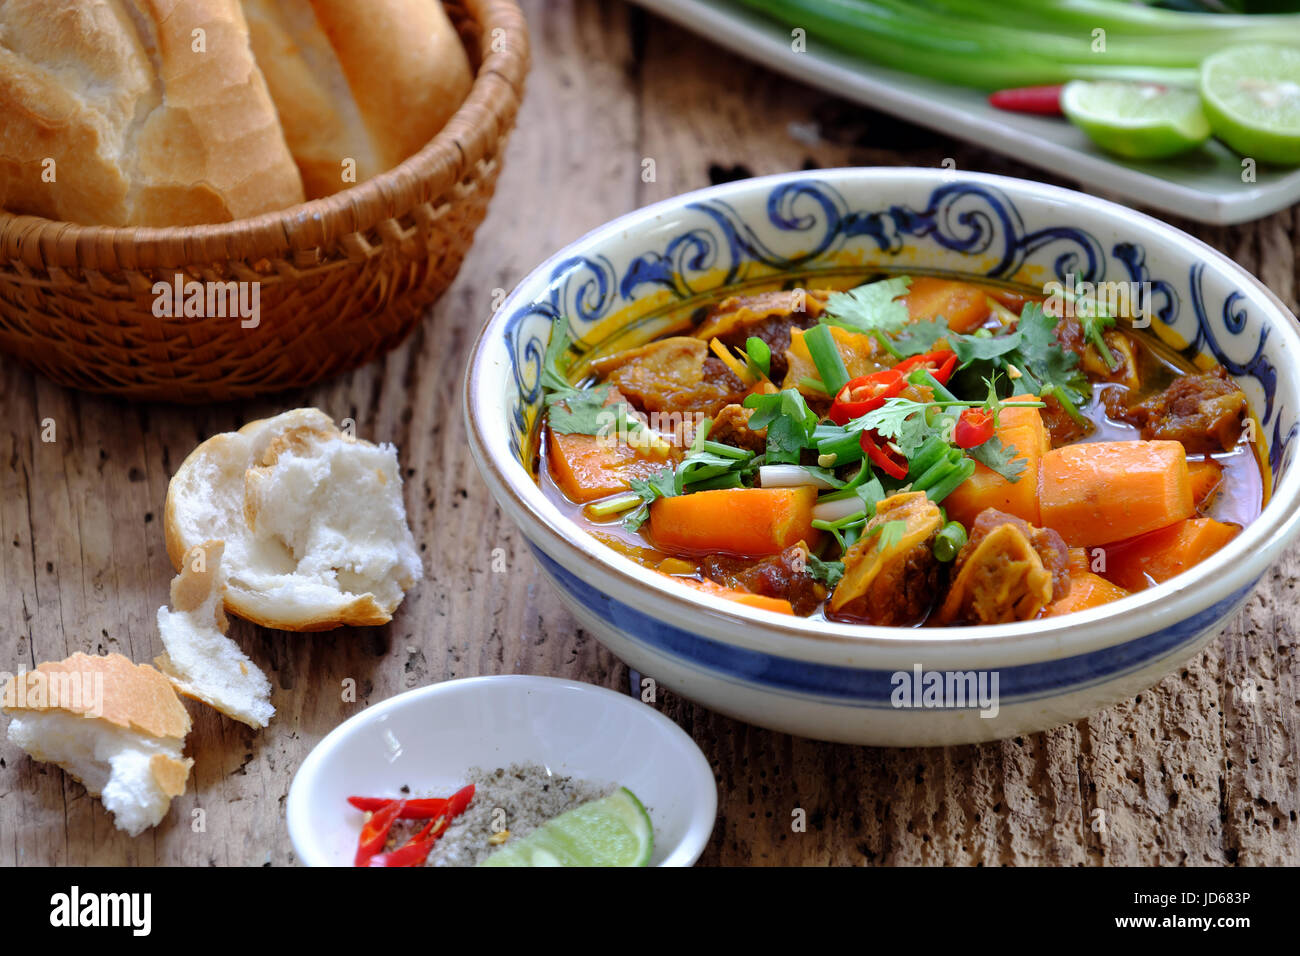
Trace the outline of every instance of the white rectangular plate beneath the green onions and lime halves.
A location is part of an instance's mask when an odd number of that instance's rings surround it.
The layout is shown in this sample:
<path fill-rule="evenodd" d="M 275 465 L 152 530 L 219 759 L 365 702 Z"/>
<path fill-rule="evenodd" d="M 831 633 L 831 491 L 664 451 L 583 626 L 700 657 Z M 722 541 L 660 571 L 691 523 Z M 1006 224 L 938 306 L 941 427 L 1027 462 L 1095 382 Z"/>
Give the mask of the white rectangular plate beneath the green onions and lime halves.
<path fill-rule="evenodd" d="M 728 0 L 636 1 L 805 83 L 1078 179 L 1086 191 L 1105 190 L 1214 225 L 1300 202 L 1300 169 L 1260 166 L 1254 182 L 1243 182 L 1242 159 L 1217 140 L 1171 160 L 1131 163 L 1101 152 L 1063 120 L 994 109 L 975 90 L 862 62 L 815 38 L 807 52 L 796 53 L 784 26 Z"/>

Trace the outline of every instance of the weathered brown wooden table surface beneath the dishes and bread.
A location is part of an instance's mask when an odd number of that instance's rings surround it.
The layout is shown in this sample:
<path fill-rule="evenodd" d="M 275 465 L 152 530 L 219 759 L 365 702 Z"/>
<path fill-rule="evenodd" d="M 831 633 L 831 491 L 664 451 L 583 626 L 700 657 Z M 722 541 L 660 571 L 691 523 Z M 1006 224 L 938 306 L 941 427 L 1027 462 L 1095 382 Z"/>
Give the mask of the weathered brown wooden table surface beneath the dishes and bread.
<path fill-rule="evenodd" d="M 1088 189 L 800 86 L 623 3 L 525 7 L 534 68 L 491 213 L 455 285 L 386 359 L 300 394 L 194 408 L 90 397 L 0 364 L 0 670 L 77 650 L 160 653 L 172 471 L 214 432 L 300 405 L 398 445 L 428 571 L 389 627 L 290 635 L 235 622 L 231 635 L 277 688 L 278 714 L 254 732 L 190 704 L 190 788 L 136 839 L 60 770 L 0 743 L 0 864 L 292 864 L 290 779 L 361 706 L 478 674 L 627 687 L 627 667 L 563 610 L 489 498 L 462 425 L 462 373 L 494 295 L 563 243 L 710 182 L 811 166 L 952 157 L 959 169 Z M 655 161 L 654 182 L 642 182 L 644 159 Z M 1174 224 L 1296 308 L 1294 209 L 1232 228 Z M 43 419 L 56 423 L 53 444 L 40 441 Z M 495 548 L 504 574 L 493 574 Z M 718 778 L 701 862 L 1300 862 L 1300 554 L 1278 558 L 1199 658 L 1130 702 L 1034 736 L 928 750 L 831 745 L 662 693 L 658 706 Z M 339 700 L 344 678 L 358 682 L 355 704 Z M 806 832 L 790 832 L 794 808 L 807 810 Z"/>

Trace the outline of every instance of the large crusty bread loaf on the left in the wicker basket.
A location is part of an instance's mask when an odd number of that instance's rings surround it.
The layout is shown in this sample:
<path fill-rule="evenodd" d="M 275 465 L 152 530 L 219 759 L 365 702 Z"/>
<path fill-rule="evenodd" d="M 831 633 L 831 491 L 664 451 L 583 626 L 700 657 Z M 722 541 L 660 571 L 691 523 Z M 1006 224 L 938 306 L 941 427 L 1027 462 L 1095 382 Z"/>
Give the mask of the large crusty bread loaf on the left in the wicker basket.
<path fill-rule="evenodd" d="M 4 0 L 0 114 L 10 212 L 190 225 L 303 200 L 239 0 Z"/>

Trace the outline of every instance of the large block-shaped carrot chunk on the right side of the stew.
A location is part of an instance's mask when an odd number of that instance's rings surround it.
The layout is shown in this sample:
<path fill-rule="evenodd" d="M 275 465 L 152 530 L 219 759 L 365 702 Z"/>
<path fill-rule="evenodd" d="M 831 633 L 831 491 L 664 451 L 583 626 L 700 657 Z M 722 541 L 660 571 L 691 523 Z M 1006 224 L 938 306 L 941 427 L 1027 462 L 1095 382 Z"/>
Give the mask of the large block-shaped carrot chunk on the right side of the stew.
<path fill-rule="evenodd" d="M 1105 545 L 1166 528 L 1196 511 L 1176 441 L 1066 445 L 1039 467 L 1041 524 L 1071 546 Z"/>

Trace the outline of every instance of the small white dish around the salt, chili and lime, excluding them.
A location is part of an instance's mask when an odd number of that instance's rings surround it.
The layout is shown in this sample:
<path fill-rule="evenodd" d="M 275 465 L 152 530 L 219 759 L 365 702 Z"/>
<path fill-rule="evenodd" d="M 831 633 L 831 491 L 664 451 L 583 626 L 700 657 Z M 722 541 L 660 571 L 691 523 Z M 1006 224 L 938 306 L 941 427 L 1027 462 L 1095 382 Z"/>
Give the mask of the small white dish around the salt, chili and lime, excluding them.
<path fill-rule="evenodd" d="M 718 816 L 708 761 L 650 705 L 575 680 L 502 675 L 399 693 L 344 721 L 289 788 L 289 838 L 308 866 L 351 866 L 361 831 L 350 796 L 447 796 L 471 767 L 540 763 L 627 787 L 654 823 L 655 866 L 690 866 Z"/>

